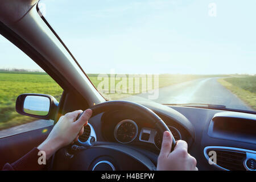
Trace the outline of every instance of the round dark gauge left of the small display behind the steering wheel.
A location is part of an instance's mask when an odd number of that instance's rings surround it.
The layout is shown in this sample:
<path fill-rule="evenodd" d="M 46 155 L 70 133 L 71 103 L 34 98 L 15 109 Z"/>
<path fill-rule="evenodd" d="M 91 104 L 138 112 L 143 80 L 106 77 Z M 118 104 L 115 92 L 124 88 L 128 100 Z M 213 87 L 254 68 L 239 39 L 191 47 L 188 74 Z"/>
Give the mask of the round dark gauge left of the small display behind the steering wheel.
<path fill-rule="evenodd" d="M 114 137 L 120 143 L 130 143 L 137 135 L 138 126 L 130 119 L 125 119 L 115 126 Z"/>

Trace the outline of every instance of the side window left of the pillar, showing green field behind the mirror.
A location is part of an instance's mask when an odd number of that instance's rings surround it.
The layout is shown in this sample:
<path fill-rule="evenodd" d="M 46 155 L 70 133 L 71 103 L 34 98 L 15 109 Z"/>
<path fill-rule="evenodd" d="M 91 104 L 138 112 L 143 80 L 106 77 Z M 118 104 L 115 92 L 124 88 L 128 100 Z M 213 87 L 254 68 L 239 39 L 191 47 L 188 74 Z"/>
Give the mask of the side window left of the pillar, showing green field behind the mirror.
<path fill-rule="evenodd" d="M 0 35 L 0 138 L 53 125 L 16 113 L 19 94 L 49 94 L 60 100 L 63 89 L 24 52 Z"/>

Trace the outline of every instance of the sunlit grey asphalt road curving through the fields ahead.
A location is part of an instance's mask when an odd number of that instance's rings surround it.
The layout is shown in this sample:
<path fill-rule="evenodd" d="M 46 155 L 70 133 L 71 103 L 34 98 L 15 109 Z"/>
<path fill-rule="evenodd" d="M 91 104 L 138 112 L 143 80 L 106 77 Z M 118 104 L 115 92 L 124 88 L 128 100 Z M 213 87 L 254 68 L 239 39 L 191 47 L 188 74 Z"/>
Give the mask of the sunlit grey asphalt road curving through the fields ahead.
<path fill-rule="evenodd" d="M 159 96 L 152 100 L 160 104 L 214 104 L 230 109 L 253 110 L 240 98 L 222 86 L 218 77 L 200 78 L 159 89 Z M 125 98 L 129 101 L 148 99 L 152 93 L 142 93 Z"/>

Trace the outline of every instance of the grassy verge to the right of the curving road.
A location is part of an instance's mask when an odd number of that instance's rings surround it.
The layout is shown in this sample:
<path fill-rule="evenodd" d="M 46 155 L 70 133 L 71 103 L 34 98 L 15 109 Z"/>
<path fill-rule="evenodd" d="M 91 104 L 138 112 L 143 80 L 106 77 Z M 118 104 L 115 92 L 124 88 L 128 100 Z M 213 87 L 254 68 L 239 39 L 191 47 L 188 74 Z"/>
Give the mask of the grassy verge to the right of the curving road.
<path fill-rule="evenodd" d="M 220 78 L 218 82 L 256 110 L 256 76 Z"/>

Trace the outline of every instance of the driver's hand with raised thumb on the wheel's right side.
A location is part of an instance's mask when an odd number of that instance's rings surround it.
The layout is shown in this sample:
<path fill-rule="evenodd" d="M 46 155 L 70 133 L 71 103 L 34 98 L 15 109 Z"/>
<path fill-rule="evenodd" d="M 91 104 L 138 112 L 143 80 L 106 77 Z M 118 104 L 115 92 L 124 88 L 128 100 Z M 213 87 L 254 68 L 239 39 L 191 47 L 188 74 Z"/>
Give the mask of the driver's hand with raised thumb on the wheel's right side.
<path fill-rule="evenodd" d="M 178 140 L 174 151 L 171 152 L 172 137 L 170 132 L 164 131 L 163 142 L 158 156 L 158 171 L 197 171 L 196 159 L 188 154 L 188 144 Z M 170 153 L 171 152 L 171 153 Z"/>

